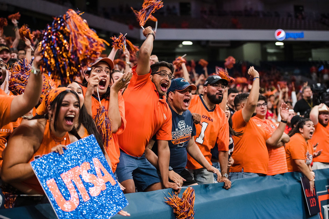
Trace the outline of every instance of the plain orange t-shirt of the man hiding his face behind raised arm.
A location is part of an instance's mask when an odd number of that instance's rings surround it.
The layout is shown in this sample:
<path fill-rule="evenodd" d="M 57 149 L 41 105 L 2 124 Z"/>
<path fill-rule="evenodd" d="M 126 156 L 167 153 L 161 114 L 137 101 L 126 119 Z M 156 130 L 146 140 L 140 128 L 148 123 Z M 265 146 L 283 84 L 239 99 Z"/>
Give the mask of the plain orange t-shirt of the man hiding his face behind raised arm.
<path fill-rule="evenodd" d="M 236 132 L 243 132 L 241 136 L 233 136 L 234 151 L 232 158 L 234 164 L 230 172 L 244 172 L 267 174 L 268 151 L 266 140 L 271 133 L 262 129 L 253 119 L 245 122 L 242 116 L 242 109 L 236 111 L 232 116 L 233 129 Z"/>

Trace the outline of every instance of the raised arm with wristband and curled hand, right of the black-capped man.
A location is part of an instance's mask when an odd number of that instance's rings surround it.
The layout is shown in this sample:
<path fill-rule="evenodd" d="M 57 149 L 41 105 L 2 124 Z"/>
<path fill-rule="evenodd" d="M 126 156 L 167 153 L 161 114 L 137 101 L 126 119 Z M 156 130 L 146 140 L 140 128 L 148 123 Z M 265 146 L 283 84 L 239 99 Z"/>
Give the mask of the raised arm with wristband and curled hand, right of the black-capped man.
<path fill-rule="evenodd" d="M 245 107 L 242 108 L 242 117 L 245 122 L 249 122 L 252 114 L 255 112 L 259 97 L 259 73 L 254 66 L 248 69 L 248 74 L 254 78 L 250 94 Z"/>

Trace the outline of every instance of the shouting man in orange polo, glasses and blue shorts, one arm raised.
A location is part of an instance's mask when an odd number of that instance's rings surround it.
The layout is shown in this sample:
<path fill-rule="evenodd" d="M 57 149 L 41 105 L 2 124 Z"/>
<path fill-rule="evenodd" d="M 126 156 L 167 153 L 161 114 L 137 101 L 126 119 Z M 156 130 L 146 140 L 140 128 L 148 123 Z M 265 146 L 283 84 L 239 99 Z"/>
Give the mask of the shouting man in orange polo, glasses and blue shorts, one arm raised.
<path fill-rule="evenodd" d="M 178 185 L 169 182 L 168 140 L 171 140 L 171 111 L 164 94 L 173 79 L 174 67 L 161 61 L 151 65 L 154 32 L 151 27 L 143 30 L 146 40 L 139 49 L 138 64 L 132 68 L 133 77 L 123 93 L 125 102 L 126 129 L 118 135 L 121 149 L 120 162 L 117 165 L 119 182 L 126 188 L 124 192 L 153 191 L 173 188 Z M 157 169 L 145 158 L 145 148 L 151 137 L 156 134 L 158 143 Z"/>

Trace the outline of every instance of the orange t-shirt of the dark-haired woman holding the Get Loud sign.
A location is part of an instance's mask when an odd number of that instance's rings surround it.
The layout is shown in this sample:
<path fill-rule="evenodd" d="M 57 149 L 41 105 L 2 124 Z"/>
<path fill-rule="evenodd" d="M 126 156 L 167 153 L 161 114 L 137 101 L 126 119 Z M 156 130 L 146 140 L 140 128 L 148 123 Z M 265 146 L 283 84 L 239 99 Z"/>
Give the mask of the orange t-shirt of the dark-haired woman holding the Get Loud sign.
<path fill-rule="evenodd" d="M 286 158 L 288 172 L 300 172 L 294 159 L 305 160 L 305 163 L 310 165 L 313 158 L 313 146 L 310 140 L 306 143 L 305 138 L 300 133 L 292 135 L 286 144 Z"/>

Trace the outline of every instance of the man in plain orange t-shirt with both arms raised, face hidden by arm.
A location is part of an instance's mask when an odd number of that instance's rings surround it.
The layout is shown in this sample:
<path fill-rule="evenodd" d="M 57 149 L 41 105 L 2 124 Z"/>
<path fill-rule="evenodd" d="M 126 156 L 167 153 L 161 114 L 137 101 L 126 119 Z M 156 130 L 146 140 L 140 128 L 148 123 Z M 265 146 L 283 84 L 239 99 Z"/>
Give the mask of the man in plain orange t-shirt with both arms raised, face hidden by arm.
<path fill-rule="evenodd" d="M 253 77 L 250 94 L 242 93 L 235 97 L 234 106 L 237 111 L 232 116 L 233 129 L 243 132 L 242 136 L 233 136 L 234 164 L 230 168 L 231 180 L 267 175 L 268 151 L 266 143 L 276 145 L 285 130 L 288 119 L 288 106 L 281 105 L 281 122 L 273 134 L 259 127 L 251 119 L 259 98 L 259 73 L 252 66 L 248 74 Z"/>

